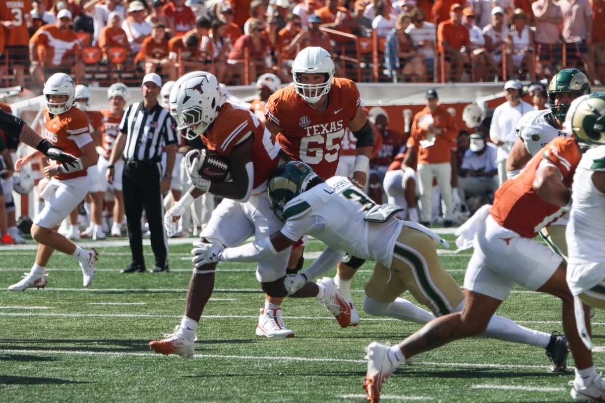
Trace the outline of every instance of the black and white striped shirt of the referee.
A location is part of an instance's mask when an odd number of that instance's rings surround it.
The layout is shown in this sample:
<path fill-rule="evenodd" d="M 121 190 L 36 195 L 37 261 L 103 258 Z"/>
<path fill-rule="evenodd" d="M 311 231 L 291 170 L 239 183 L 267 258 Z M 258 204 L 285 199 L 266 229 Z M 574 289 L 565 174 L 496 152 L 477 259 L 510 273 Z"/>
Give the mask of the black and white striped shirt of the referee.
<path fill-rule="evenodd" d="M 126 134 L 124 158 L 158 161 L 163 147 L 177 142 L 175 127 L 174 119 L 159 103 L 149 111 L 142 102 L 128 106 L 120 123 L 120 132 Z"/>

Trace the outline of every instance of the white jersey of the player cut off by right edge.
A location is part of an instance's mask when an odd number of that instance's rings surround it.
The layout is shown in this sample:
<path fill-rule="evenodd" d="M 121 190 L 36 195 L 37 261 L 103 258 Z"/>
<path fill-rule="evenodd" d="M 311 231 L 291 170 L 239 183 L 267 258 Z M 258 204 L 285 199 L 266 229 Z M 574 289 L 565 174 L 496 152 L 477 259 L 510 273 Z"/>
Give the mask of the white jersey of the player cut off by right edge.
<path fill-rule="evenodd" d="M 605 195 L 592 183 L 598 171 L 605 171 L 605 146 L 589 149 L 575 170 L 565 233 L 569 263 L 605 262 Z"/>

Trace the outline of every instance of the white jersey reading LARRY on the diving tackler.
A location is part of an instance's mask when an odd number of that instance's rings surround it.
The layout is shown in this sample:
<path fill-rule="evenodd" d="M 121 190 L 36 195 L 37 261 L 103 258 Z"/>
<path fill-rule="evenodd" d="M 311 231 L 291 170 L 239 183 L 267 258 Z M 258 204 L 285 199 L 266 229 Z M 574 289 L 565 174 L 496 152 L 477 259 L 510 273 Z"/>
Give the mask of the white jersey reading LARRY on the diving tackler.
<path fill-rule="evenodd" d="M 292 240 L 309 234 L 332 248 L 389 267 L 404 222 L 397 218 L 365 221 L 365 214 L 374 206 L 370 196 L 348 178 L 333 176 L 286 204 L 281 232 Z"/>

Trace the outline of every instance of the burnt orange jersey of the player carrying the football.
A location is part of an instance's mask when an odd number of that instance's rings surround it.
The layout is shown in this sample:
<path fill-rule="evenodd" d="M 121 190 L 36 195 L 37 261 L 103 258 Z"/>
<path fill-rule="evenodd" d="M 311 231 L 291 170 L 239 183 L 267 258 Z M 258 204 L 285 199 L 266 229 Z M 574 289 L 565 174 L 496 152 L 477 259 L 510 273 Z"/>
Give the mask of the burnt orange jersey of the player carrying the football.
<path fill-rule="evenodd" d="M 216 150 L 220 155 L 229 153 L 240 141 L 252 132 L 252 165 L 254 182 L 252 189 L 264 184 L 278 166 L 280 146 L 264 124 L 247 109 L 226 102 L 218 112 L 218 117 L 208 131 L 201 135 L 206 147 Z"/>

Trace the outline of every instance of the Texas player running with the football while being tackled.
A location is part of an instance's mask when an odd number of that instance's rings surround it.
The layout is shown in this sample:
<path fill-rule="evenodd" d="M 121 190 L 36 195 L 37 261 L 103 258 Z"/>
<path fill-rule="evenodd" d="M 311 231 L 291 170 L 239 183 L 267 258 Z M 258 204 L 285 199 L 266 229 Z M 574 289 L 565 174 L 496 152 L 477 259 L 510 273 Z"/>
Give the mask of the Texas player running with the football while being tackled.
<path fill-rule="evenodd" d="M 193 150 L 186 157 L 191 189 L 165 215 L 170 235 L 175 223 L 192 202 L 206 192 L 223 200 L 212 211 L 208 225 L 201 231 L 201 243 L 238 245 L 248 237 L 269 236 L 281 221 L 272 213 L 266 195 L 267 180 L 278 165 L 280 145 L 256 115 L 225 101 L 216 77 L 194 72 L 177 80 L 170 94 L 170 111 L 177 129 L 187 138 L 200 136 L 204 145 L 229 161 L 232 181 L 210 181 L 199 175 L 198 157 Z M 189 158 L 195 156 L 195 158 Z M 284 250 L 258 262 L 257 280 L 267 295 L 286 297 L 284 285 L 290 251 Z M 201 312 L 212 295 L 216 263 L 196 265 L 185 305 L 185 315 L 174 333 L 163 340 L 151 341 L 149 348 L 162 354 L 192 356 L 195 352 L 195 330 Z M 315 297 L 332 312 L 342 327 L 350 323 L 350 309 L 336 291 L 332 281 L 309 284 L 293 297 Z M 270 309 L 267 316 L 281 320 L 280 309 Z"/>

